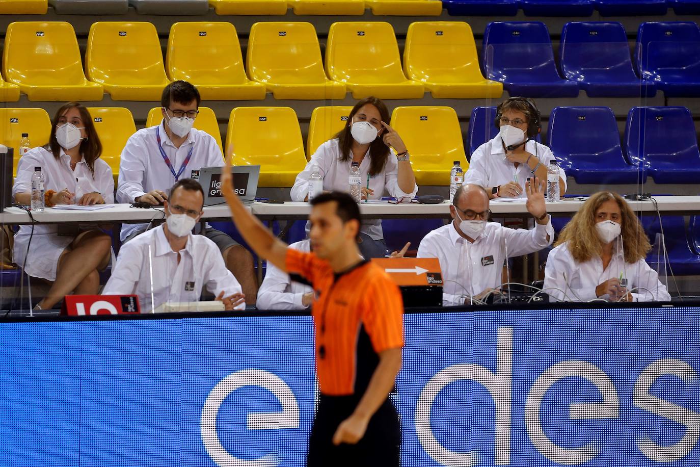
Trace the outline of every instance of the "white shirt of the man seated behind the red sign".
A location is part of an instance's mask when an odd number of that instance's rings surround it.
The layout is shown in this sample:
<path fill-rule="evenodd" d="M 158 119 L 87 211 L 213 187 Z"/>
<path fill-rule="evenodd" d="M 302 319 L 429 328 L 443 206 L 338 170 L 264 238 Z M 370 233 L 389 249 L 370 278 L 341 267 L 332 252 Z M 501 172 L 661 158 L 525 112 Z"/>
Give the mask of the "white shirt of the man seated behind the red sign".
<path fill-rule="evenodd" d="M 122 245 L 102 295 L 139 295 L 141 311 L 151 312 L 166 302 L 198 302 L 203 287 L 215 296 L 221 292 L 225 297 L 241 293 L 241 286 L 226 269 L 218 247 L 204 235 L 190 233 L 180 251 L 180 263 L 177 257 L 162 225 L 147 230 Z M 241 303 L 236 309 L 245 307 Z"/>

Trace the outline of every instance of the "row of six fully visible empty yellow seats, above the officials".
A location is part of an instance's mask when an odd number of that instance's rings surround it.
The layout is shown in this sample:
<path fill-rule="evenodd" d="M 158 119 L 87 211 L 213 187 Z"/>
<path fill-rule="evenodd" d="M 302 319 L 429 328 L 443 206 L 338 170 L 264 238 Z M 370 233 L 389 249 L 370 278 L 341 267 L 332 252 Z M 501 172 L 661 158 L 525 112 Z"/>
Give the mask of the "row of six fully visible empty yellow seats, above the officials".
<path fill-rule="evenodd" d="M 47 51 L 50 50 L 50 53 Z M 258 22 L 251 28 L 244 69 L 229 22 L 178 22 L 165 65 L 148 22 L 96 22 L 90 27 L 85 74 L 67 22 L 13 22 L 3 54 L 4 100 L 155 101 L 171 80 L 197 85 L 203 99 L 382 99 L 500 97 L 503 85 L 484 79 L 474 36 L 465 22 L 416 22 L 409 28 L 402 69 L 387 22 L 336 22 L 324 61 L 307 22 Z M 246 74 L 247 70 L 247 74 Z M 407 77 L 408 76 L 408 77 Z M 13 95 L 14 91 L 14 95 Z"/>

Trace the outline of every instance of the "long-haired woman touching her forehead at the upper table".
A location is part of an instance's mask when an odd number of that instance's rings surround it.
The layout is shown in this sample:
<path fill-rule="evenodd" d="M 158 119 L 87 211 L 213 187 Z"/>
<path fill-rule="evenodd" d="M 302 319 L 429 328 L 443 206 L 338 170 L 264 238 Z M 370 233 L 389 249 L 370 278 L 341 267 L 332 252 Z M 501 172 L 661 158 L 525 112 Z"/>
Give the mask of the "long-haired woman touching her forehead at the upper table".
<path fill-rule="evenodd" d="M 381 200 L 386 192 L 401 202 L 410 202 L 418 192 L 416 177 L 407 148 L 388 121 L 388 109 L 377 97 L 357 102 L 343 130 L 321 144 L 297 175 L 292 200 L 308 200 L 309 177 L 316 164 L 323 177 L 323 190 L 347 192 L 350 167 L 352 162 L 359 162 L 363 200 Z M 386 242 L 381 221 L 363 221 L 358 242 L 365 258 L 384 258 Z"/>

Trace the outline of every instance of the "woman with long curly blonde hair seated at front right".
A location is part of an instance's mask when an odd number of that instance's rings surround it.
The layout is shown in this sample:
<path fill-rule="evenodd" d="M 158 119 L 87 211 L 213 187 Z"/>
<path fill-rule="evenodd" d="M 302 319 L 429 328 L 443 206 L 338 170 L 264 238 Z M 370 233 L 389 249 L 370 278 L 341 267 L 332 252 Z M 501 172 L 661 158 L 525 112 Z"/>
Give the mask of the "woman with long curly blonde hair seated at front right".
<path fill-rule="evenodd" d="M 671 295 L 644 259 L 650 249 L 625 200 L 617 193 L 596 193 L 549 252 L 544 290 L 557 301 L 667 302 Z"/>

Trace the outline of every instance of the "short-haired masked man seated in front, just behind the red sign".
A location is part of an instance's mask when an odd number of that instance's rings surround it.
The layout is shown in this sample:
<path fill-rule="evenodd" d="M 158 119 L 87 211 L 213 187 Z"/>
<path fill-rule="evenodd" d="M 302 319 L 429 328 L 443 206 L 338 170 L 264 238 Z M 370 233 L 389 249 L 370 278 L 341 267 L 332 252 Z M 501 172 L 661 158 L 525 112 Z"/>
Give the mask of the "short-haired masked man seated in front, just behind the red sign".
<path fill-rule="evenodd" d="M 226 309 L 244 309 L 236 278 L 226 269 L 216 244 L 192 229 L 202 217 L 204 192 L 200 183 L 182 179 L 164 201 L 165 224 L 146 230 L 122 245 L 112 277 L 102 295 L 139 295 L 141 309 L 166 302 L 197 302 L 202 288 L 223 300 Z M 153 290 L 151 290 L 151 278 Z"/>

